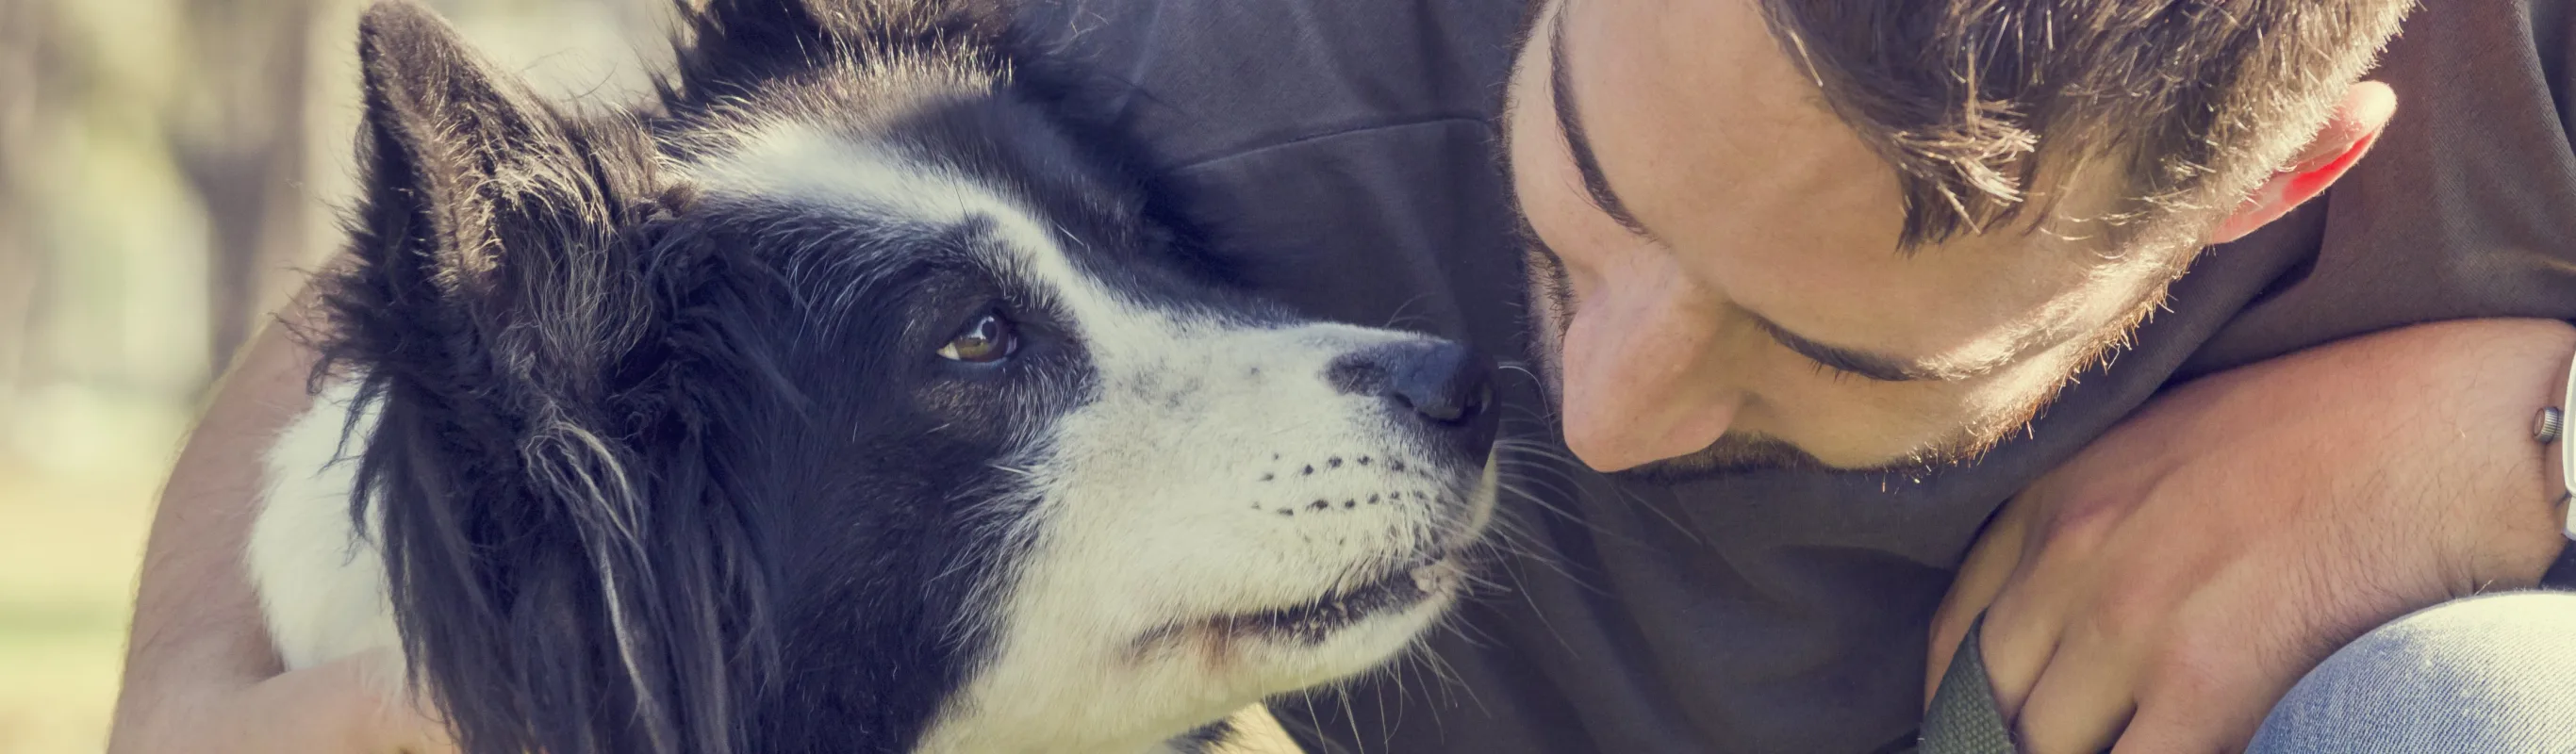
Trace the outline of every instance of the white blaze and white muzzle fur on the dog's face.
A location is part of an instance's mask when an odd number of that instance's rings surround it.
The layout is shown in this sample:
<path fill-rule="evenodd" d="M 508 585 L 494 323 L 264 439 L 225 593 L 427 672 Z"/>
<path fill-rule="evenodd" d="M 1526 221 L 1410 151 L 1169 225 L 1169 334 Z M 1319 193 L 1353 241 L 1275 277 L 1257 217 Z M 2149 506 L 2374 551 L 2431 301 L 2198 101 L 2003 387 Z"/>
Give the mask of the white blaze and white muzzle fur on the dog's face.
<path fill-rule="evenodd" d="M 1033 468 L 1041 507 L 1020 522 L 1036 528 L 1036 551 L 984 607 L 992 664 L 920 751 L 1151 751 L 1262 695 L 1365 672 L 1437 615 L 1437 605 L 1391 610 L 1316 646 L 1141 641 L 1311 602 L 1455 530 L 1419 499 L 1458 494 L 1450 481 L 1391 471 L 1388 461 L 1430 463 L 1399 440 L 1383 401 L 1327 381 L 1334 358 L 1409 335 L 1141 306 L 1084 275 L 1066 237 L 1020 201 L 809 129 L 750 139 L 698 178 L 719 193 L 796 196 L 871 219 L 989 221 L 1010 252 L 989 262 L 1066 311 L 1092 360 L 1097 399 L 1056 422 Z"/>

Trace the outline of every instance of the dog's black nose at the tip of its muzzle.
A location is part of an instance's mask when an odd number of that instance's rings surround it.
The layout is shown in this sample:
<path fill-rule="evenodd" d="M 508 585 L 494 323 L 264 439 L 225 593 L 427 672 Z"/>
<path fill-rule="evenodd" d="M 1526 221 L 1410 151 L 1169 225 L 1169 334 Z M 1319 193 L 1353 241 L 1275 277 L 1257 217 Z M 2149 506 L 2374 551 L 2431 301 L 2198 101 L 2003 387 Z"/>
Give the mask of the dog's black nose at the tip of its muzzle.
<path fill-rule="evenodd" d="M 1345 394 L 1386 396 L 1435 445 L 1484 461 L 1494 448 L 1494 360 L 1448 340 L 1378 345 L 1332 363 L 1332 383 Z"/>

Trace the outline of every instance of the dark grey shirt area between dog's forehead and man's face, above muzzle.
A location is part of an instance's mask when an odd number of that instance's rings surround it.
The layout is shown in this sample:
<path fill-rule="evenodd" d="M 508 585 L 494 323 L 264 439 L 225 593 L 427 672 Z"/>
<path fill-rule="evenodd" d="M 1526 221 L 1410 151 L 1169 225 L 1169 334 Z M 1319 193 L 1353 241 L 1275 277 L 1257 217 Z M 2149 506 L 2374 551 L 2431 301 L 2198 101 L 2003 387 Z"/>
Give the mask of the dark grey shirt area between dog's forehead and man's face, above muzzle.
<path fill-rule="evenodd" d="M 1303 314 L 1507 350 L 1512 216 L 1489 116 L 1517 3 L 1043 0 L 1077 108 L 1141 142 L 1224 270 Z"/>

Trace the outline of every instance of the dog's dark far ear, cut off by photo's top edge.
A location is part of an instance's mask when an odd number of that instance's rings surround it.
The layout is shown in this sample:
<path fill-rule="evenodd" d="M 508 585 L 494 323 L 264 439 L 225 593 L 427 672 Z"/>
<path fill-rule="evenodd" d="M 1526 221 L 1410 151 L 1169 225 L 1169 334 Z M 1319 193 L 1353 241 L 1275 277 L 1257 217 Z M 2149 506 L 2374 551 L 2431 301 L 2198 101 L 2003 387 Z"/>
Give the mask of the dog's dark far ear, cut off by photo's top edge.
<path fill-rule="evenodd" d="M 999 57 L 994 0 L 677 0 L 680 85 L 693 100 L 742 95 L 773 77 L 904 54 Z"/>

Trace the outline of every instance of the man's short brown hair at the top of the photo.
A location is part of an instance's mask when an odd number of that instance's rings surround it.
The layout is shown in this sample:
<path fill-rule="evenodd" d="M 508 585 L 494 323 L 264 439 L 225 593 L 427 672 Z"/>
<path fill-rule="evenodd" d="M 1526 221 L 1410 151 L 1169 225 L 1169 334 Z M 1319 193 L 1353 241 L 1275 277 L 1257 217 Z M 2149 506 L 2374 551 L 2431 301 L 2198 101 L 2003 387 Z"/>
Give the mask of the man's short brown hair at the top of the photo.
<path fill-rule="evenodd" d="M 2414 0 L 1762 5 L 1896 167 L 1917 247 L 2012 221 L 2040 175 L 2094 160 L 2128 180 L 2115 226 L 2233 201 L 2324 124 Z"/>

